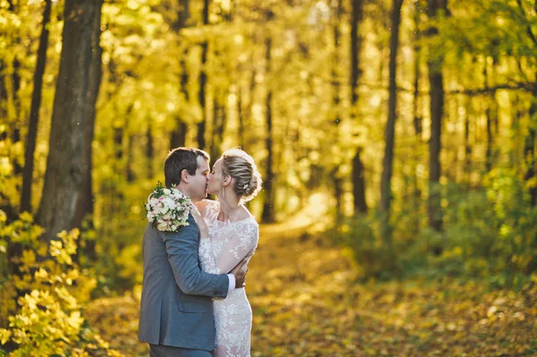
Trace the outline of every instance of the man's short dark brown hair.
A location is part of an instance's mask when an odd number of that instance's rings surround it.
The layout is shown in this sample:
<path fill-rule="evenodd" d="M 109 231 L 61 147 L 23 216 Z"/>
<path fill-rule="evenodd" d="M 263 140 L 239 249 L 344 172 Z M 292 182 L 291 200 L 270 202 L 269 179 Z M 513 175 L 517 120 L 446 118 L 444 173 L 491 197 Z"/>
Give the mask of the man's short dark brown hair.
<path fill-rule="evenodd" d="M 188 174 L 196 174 L 198 169 L 198 157 L 209 160 L 209 154 L 195 148 L 176 148 L 170 151 L 164 161 L 164 178 L 166 187 L 181 183 L 181 172 L 186 170 Z"/>

